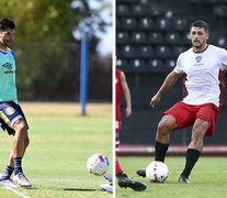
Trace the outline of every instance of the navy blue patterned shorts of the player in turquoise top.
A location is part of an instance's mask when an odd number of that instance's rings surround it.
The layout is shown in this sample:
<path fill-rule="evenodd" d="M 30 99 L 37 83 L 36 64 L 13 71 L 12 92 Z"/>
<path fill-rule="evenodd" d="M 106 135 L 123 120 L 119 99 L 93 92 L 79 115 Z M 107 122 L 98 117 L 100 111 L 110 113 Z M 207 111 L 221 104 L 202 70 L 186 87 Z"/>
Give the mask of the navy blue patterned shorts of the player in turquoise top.
<path fill-rule="evenodd" d="M 9 135 L 15 132 L 13 130 L 13 124 L 21 118 L 26 122 L 24 113 L 19 105 L 13 101 L 0 102 L 0 127 L 3 131 L 7 130 Z"/>

